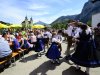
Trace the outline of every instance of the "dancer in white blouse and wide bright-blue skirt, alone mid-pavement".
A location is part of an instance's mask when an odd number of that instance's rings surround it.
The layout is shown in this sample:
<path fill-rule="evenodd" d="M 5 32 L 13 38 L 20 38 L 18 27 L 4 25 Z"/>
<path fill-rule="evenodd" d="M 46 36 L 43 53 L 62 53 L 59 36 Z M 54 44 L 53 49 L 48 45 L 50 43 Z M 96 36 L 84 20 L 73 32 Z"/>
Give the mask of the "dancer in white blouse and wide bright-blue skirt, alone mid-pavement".
<path fill-rule="evenodd" d="M 46 53 L 46 57 L 51 59 L 52 63 L 60 63 L 60 55 L 61 55 L 61 41 L 56 32 L 53 33 L 52 44 Z"/>

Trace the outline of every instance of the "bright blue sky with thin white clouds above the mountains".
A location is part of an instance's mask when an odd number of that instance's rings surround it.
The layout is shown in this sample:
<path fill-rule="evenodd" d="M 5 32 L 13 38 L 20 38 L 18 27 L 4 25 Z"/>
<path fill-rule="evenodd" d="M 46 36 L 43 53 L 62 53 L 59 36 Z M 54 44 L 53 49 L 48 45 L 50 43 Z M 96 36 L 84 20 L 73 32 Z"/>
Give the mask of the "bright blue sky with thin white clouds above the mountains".
<path fill-rule="evenodd" d="M 52 23 L 61 16 L 82 11 L 88 0 L 0 0 L 0 21 L 20 24 L 25 16 L 34 23 Z"/>

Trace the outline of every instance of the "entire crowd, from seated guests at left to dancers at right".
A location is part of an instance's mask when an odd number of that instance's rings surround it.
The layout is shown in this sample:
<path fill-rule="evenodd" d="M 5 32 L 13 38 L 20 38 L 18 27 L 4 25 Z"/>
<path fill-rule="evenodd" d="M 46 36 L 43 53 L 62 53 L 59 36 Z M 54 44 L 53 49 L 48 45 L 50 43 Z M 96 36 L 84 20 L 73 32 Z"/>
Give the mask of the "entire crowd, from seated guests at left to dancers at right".
<path fill-rule="evenodd" d="M 0 61 L 12 56 L 13 51 L 22 49 L 34 50 L 37 56 L 44 53 L 54 63 L 60 63 L 62 58 L 63 38 L 67 42 L 66 60 L 71 60 L 79 66 L 86 67 L 86 74 L 89 69 L 100 67 L 100 23 L 96 28 L 80 22 L 71 22 L 65 30 L 34 29 L 12 32 L 5 31 L 0 35 Z M 74 45 L 74 52 L 70 48 Z"/>

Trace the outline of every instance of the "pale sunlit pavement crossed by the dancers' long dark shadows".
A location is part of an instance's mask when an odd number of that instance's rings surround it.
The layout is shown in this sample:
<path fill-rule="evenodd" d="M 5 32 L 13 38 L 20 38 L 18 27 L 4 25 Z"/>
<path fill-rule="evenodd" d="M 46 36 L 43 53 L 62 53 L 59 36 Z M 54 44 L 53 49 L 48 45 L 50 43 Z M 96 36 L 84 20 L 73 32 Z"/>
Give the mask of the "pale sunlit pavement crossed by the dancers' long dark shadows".
<path fill-rule="evenodd" d="M 62 47 L 62 56 L 65 57 L 66 44 L 63 43 Z M 16 61 L 16 66 L 7 68 L 0 75 L 86 75 L 84 67 L 81 71 L 75 71 L 75 65 L 69 64 L 64 58 L 60 65 L 51 64 L 45 55 L 37 58 L 36 53 L 31 51 L 25 55 L 25 60 Z M 100 68 L 91 69 L 90 75 L 100 75 Z"/>

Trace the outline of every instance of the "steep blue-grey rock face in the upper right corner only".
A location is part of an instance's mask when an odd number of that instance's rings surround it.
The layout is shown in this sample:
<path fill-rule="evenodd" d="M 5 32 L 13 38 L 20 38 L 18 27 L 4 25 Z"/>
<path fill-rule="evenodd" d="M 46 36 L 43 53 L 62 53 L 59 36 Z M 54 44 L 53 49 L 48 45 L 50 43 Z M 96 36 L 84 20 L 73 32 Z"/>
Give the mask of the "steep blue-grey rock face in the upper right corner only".
<path fill-rule="evenodd" d="M 100 12 L 100 1 L 92 3 L 91 0 L 85 3 L 82 12 L 76 16 L 76 20 L 80 20 L 84 23 L 87 23 L 88 20 L 91 20 L 92 14 Z"/>

